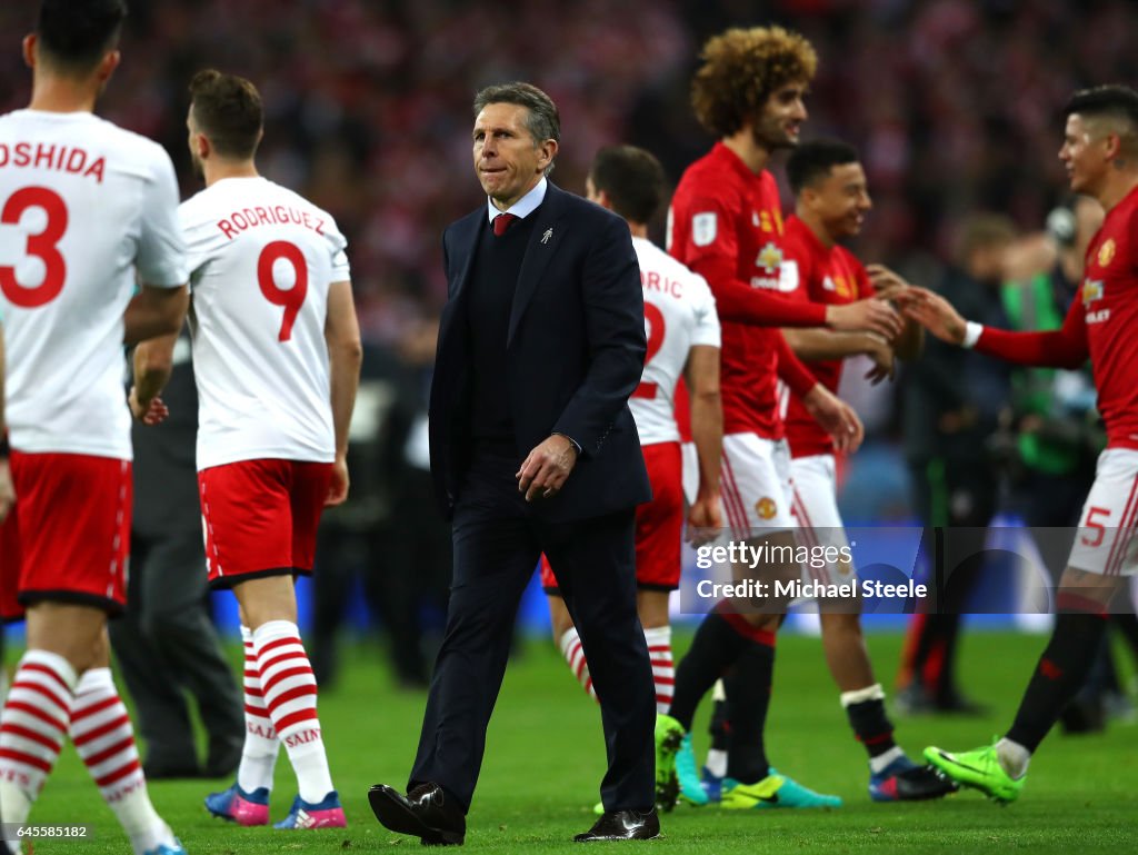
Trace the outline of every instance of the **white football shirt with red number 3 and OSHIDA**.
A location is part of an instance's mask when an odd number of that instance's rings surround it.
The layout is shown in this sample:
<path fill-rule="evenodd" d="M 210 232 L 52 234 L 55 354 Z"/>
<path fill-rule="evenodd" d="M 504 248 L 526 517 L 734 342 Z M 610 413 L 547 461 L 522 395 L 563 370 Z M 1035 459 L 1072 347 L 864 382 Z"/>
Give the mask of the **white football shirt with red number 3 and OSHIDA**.
<path fill-rule="evenodd" d="M 0 116 L 0 311 L 11 446 L 131 459 L 123 312 L 185 282 L 156 142 L 90 113 Z"/>

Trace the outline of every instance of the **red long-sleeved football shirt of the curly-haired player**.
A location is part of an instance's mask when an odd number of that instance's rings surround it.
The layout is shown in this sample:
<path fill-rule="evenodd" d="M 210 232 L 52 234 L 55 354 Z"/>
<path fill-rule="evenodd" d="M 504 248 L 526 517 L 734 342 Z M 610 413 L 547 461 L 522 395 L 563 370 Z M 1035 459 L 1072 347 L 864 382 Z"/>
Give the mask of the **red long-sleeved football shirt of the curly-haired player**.
<path fill-rule="evenodd" d="M 782 239 L 769 172 L 754 174 L 721 142 L 684 172 L 668 211 L 668 252 L 707 279 L 716 298 L 725 434 L 782 437 L 777 328 L 825 323 L 825 306 L 780 293 Z"/>

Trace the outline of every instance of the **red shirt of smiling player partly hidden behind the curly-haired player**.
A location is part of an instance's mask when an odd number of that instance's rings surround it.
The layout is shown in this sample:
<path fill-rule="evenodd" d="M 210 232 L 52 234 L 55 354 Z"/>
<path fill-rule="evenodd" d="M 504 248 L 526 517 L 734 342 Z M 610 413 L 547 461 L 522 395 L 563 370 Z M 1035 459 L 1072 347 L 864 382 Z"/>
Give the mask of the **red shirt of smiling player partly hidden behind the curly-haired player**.
<path fill-rule="evenodd" d="M 783 236 L 783 283 L 791 299 L 801 302 L 844 305 L 873 294 L 869 276 L 857 257 L 844 247 L 826 246 L 806 223 L 797 216 L 786 220 Z M 809 363 L 818 383 L 838 392 L 844 360 L 823 360 Z M 802 406 L 798 395 L 791 394 L 786 406 L 786 441 L 791 455 L 832 454 L 834 443 L 830 434 L 818 426 Z"/>

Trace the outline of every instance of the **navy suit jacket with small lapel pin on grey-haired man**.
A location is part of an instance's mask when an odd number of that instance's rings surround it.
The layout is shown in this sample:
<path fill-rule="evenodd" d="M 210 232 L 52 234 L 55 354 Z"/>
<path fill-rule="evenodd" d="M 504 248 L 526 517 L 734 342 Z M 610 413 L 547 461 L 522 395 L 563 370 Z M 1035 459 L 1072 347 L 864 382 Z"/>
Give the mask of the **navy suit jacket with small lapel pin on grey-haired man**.
<path fill-rule="evenodd" d="M 552 521 L 584 519 L 651 499 L 628 396 L 644 369 L 644 295 L 628 224 L 547 184 L 518 274 L 506 340 L 506 385 L 518 463 L 550 434 L 582 452 L 561 492 L 535 500 Z M 448 289 L 430 396 L 431 475 L 450 517 L 470 460 L 472 365 L 468 286 L 486 207 L 447 227 Z"/>

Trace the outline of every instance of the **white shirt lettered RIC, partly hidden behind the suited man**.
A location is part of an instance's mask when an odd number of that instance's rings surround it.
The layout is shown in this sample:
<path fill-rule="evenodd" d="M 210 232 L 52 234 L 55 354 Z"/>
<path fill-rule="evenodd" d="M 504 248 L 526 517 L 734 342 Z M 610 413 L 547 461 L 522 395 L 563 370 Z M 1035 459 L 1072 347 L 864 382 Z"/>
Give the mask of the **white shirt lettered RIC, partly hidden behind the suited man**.
<path fill-rule="evenodd" d="M 644 238 L 633 238 L 644 288 L 648 353 L 628 400 L 641 445 L 679 441 L 673 400 L 695 345 L 719 346 L 719 318 L 707 280 Z"/>

